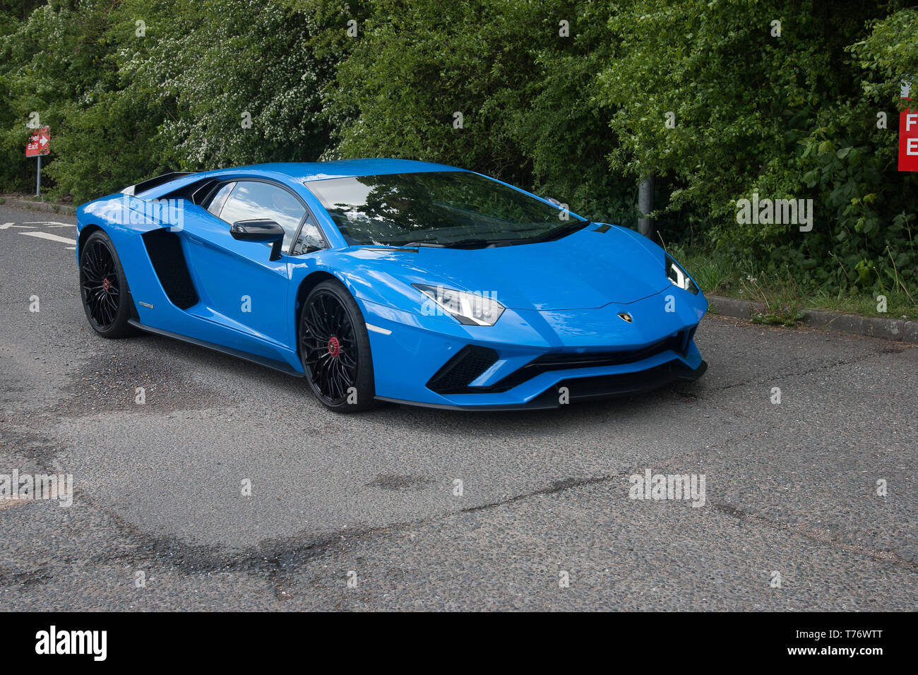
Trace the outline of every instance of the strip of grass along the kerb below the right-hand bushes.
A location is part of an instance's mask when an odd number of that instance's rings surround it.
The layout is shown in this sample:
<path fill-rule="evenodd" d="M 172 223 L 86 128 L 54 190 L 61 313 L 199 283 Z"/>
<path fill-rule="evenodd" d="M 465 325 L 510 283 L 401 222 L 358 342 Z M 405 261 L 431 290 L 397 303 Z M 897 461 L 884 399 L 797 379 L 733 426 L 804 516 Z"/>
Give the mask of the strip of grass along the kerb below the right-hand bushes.
<path fill-rule="evenodd" d="M 895 319 L 918 319 L 918 298 L 914 290 L 911 297 L 906 289 L 888 289 L 886 311 L 879 311 L 876 295 L 833 294 L 825 290 L 802 290 L 789 269 L 783 274 L 750 275 L 733 259 L 711 253 L 679 251 L 670 253 L 689 270 L 689 274 L 706 294 L 753 300 L 764 306 L 752 317 L 753 321 L 794 325 L 800 320 L 803 309 L 825 309 L 845 314 Z"/>

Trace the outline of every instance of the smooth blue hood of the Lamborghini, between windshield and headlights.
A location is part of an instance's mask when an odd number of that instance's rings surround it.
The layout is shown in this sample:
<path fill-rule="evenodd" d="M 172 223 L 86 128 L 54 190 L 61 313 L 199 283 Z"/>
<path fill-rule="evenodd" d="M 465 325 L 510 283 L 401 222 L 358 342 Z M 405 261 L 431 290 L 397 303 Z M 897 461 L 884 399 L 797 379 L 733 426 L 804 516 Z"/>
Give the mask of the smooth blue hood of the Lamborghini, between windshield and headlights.
<path fill-rule="evenodd" d="M 602 229 L 602 228 L 600 228 Z M 663 252 L 632 231 L 597 225 L 555 242 L 484 249 L 420 247 L 402 253 L 409 283 L 487 294 L 510 309 L 590 309 L 670 286 Z M 649 246 L 648 246 L 649 244 Z M 653 248 L 652 248 L 653 247 Z"/>

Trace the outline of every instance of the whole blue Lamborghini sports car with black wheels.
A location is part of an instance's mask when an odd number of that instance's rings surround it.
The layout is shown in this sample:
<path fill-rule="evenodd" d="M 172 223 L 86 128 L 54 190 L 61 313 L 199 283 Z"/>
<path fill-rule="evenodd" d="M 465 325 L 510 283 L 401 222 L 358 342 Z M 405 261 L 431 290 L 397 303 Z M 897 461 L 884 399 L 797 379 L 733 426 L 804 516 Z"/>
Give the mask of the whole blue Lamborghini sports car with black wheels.
<path fill-rule="evenodd" d="M 640 234 L 407 160 L 166 174 L 77 210 L 100 335 L 166 335 L 375 400 L 554 408 L 693 380 L 708 303 Z"/>

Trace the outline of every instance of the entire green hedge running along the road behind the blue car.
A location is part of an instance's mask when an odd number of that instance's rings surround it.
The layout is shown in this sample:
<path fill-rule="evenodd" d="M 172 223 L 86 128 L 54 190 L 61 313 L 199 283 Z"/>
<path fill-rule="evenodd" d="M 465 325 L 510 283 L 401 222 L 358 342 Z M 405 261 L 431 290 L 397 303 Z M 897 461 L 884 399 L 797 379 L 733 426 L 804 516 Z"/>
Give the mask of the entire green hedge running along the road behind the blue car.
<path fill-rule="evenodd" d="M 0 189 L 34 181 L 32 112 L 76 202 L 169 169 L 394 156 L 633 226 L 653 174 L 667 243 L 916 295 L 908 73 L 904 2 L 23 1 L 0 10 Z M 754 193 L 812 199 L 812 231 L 738 222 Z"/>

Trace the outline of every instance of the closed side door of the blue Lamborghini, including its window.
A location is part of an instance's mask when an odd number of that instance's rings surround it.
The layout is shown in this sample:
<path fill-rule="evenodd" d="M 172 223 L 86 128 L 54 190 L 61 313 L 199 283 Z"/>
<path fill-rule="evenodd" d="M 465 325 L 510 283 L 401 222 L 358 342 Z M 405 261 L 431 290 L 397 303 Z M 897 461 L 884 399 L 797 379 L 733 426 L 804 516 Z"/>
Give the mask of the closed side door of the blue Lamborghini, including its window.
<path fill-rule="evenodd" d="M 307 208 L 291 191 L 272 182 L 239 179 L 218 186 L 199 211 L 196 227 L 186 228 L 192 268 L 209 314 L 202 318 L 222 323 L 254 337 L 286 345 L 289 276 L 287 255 Z M 279 260 L 271 260 L 271 245 L 237 241 L 229 226 L 239 220 L 274 220 L 285 232 Z"/>

